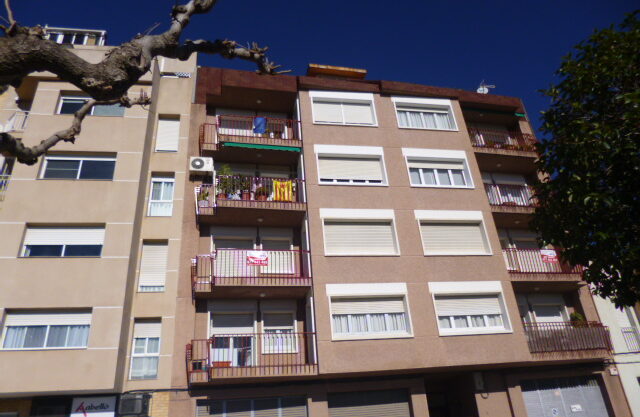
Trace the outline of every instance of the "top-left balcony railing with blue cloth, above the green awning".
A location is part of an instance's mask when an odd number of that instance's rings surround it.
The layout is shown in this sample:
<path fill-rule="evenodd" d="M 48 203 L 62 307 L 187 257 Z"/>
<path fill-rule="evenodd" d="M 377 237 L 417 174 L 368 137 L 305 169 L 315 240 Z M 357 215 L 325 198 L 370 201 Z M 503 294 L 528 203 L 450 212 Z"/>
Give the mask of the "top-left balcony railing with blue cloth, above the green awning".
<path fill-rule="evenodd" d="M 216 116 L 200 126 L 200 150 L 216 150 L 220 142 L 257 142 L 301 146 L 300 122 L 261 116 Z"/>

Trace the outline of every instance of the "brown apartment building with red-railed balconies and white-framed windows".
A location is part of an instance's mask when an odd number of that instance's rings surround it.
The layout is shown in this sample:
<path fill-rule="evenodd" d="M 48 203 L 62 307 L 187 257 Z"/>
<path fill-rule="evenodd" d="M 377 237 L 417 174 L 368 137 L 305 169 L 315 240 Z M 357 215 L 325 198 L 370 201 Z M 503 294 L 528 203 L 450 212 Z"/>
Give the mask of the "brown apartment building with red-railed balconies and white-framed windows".
<path fill-rule="evenodd" d="M 535 141 L 517 98 L 199 68 L 169 414 L 631 415 Z"/>

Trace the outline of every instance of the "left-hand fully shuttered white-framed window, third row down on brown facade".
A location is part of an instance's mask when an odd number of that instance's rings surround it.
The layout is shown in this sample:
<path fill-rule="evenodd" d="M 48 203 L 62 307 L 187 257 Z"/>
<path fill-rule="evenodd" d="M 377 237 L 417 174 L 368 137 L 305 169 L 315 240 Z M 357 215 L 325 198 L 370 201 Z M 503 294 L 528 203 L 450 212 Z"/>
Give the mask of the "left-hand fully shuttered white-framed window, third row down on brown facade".
<path fill-rule="evenodd" d="M 327 256 L 399 254 L 393 210 L 320 209 L 320 216 Z"/>

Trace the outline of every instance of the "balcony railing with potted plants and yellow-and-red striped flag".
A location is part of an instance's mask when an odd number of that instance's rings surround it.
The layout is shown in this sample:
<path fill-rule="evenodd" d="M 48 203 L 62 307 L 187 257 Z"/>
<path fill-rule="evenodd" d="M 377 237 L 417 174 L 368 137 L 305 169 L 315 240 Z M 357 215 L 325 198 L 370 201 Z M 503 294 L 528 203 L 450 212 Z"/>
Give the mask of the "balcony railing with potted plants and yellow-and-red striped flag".
<path fill-rule="evenodd" d="M 199 214 L 225 207 L 302 209 L 304 180 L 220 175 L 215 184 L 196 187 Z"/>

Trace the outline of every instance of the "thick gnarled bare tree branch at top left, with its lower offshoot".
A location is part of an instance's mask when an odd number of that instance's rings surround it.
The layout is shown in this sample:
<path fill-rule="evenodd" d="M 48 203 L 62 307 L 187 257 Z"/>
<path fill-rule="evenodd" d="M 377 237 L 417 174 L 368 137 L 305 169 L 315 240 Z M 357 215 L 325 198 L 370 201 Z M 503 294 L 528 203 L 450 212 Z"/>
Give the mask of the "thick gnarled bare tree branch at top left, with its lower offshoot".
<path fill-rule="evenodd" d="M 257 43 L 243 47 L 230 40 L 187 40 L 181 44 L 180 36 L 191 17 L 208 13 L 216 3 L 217 0 L 190 0 L 186 4 L 176 5 L 171 11 L 171 25 L 165 32 L 151 35 L 151 31 L 147 31 L 145 35 L 137 35 L 131 41 L 109 50 L 101 62 L 92 64 L 75 55 L 72 49 L 44 39 L 42 27 L 18 25 L 9 0 L 5 0 L 10 27 L 4 28 L 5 36 L 0 37 L 0 91 L 6 85 L 18 87 L 33 72 L 49 71 L 89 94 L 98 103 L 119 101 L 149 71 L 154 57 L 187 60 L 194 52 L 250 61 L 256 64 L 257 72 L 261 74 L 288 72 L 277 71 L 280 66 L 266 56 L 268 48 L 261 48 Z M 85 115 L 86 112 L 76 114 L 74 125 L 69 129 L 55 133 L 32 148 L 3 133 L 0 152 L 17 156 L 23 163 L 35 163 L 38 156 L 56 143 L 73 142 Z"/>

